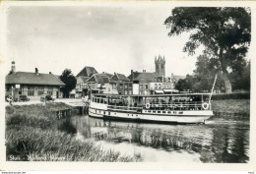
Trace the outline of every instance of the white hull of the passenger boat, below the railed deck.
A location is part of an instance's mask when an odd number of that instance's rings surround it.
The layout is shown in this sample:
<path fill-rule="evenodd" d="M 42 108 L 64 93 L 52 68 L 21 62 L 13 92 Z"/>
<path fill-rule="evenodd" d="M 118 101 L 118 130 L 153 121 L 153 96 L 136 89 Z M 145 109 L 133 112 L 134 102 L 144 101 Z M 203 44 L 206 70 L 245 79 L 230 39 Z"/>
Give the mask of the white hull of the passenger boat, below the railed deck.
<path fill-rule="evenodd" d="M 194 124 L 203 123 L 205 120 L 213 116 L 211 110 L 188 110 L 188 111 L 153 111 L 142 110 L 129 111 L 108 109 L 106 104 L 96 103 L 97 105 L 90 106 L 89 115 L 91 117 L 119 120 L 119 121 L 133 121 L 133 122 L 150 122 L 150 123 L 169 123 L 169 124 Z M 153 113 L 158 112 L 158 113 Z"/>

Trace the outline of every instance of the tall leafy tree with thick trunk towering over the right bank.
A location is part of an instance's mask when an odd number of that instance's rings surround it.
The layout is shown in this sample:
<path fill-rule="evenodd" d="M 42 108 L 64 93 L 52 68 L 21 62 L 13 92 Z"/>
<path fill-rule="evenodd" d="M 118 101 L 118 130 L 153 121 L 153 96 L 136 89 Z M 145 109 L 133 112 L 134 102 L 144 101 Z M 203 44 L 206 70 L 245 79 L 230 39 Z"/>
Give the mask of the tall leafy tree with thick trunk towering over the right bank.
<path fill-rule="evenodd" d="M 244 63 L 251 40 L 250 9 L 178 7 L 164 25 L 170 29 L 169 36 L 191 31 L 183 51 L 193 55 L 204 45 L 204 54 L 215 60 L 215 68 L 222 72 L 225 92 L 231 92 L 228 71 L 239 69 Z"/>

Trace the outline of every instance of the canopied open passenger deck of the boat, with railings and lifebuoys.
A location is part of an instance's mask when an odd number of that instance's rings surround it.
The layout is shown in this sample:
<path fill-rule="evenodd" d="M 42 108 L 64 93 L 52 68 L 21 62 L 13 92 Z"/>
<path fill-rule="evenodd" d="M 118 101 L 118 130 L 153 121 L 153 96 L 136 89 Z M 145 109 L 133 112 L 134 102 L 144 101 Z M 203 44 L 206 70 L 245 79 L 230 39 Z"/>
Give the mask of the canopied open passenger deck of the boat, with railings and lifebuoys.
<path fill-rule="evenodd" d="M 211 110 L 210 93 L 156 95 L 94 94 L 92 102 L 151 110 Z"/>

